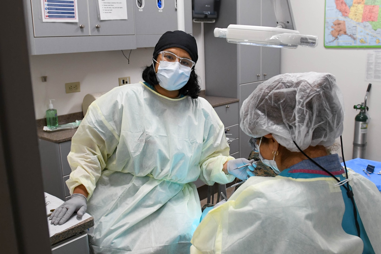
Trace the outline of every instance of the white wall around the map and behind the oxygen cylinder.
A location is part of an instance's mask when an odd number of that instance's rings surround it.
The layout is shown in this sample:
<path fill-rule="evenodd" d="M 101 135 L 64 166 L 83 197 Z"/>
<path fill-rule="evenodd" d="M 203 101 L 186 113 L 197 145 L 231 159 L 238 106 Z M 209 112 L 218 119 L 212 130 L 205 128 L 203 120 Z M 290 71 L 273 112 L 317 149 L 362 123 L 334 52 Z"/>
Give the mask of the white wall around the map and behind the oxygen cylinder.
<path fill-rule="evenodd" d="M 296 23 L 301 34 L 312 34 L 319 37 L 317 48 L 299 47 L 296 50 L 281 50 L 281 73 L 288 72 L 330 72 L 336 76 L 338 86 L 343 92 L 345 112 L 344 119 L 344 158 L 352 159 L 352 142 L 354 118 L 357 115 L 353 105 L 363 102 L 368 83 L 372 83 L 368 99 L 371 122 L 368 128 L 367 159 L 380 160 L 381 115 L 378 109 L 381 100 L 380 82 L 365 81 L 367 52 L 372 49 L 326 49 L 324 48 L 324 14 L 325 1 L 290 0 Z"/>

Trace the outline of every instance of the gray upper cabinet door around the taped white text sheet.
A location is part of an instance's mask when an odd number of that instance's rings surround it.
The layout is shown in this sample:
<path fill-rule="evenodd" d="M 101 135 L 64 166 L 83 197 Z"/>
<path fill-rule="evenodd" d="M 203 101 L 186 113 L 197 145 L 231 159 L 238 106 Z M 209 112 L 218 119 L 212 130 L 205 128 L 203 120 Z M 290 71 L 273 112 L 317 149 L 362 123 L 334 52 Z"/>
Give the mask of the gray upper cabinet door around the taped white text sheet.
<path fill-rule="evenodd" d="M 100 20 L 97 0 L 88 0 L 90 35 L 133 35 L 134 11 L 133 0 L 127 0 L 127 19 Z"/>

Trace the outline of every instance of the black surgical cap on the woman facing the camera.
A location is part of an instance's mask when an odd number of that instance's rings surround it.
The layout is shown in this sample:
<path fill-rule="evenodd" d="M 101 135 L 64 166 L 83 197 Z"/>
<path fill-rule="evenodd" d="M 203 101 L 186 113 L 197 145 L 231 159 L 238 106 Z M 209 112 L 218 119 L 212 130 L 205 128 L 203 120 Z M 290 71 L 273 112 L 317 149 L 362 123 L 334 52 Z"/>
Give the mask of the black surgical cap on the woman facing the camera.
<path fill-rule="evenodd" d="M 154 58 L 160 51 L 163 51 L 166 48 L 182 48 L 188 52 L 194 62 L 197 62 L 197 59 L 199 58 L 196 39 L 192 35 L 183 31 L 176 30 L 173 32 L 165 32 L 156 43 L 153 55 Z"/>

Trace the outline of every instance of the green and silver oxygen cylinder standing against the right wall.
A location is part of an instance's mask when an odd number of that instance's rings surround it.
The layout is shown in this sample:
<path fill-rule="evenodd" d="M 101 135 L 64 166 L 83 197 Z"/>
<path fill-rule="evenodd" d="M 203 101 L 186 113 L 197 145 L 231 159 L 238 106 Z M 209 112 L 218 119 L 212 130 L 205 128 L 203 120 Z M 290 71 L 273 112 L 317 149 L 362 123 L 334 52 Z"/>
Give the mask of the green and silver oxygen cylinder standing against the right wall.
<path fill-rule="evenodd" d="M 367 93 L 365 95 L 365 101 L 362 104 L 354 105 L 354 109 L 359 109 L 360 113 L 355 117 L 355 131 L 353 138 L 353 154 L 352 159 L 362 158 L 365 159 L 365 153 L 367 151 L 367 133 L 368 133 L 368 116 L 367 116 L 367 99 L 369 96 L 370 87 L 368 85 Z"/>

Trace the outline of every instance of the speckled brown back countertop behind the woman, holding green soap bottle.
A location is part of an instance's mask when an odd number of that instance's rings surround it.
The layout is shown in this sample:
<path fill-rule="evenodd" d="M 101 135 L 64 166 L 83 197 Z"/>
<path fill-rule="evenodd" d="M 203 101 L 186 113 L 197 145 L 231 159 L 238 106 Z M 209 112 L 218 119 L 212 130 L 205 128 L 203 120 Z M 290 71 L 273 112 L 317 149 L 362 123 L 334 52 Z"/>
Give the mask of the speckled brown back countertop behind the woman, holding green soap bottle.
<path fill-rule="evenodd" d="M 229 98 L 229 97 L 216 97 L 216 96 L 206 96 L 205 90 L 202 90 L 199 93 L 200 97 L 203 97 L 206 99 L 212 107 L 218 107 L 221 105 L 226 105 L 233 102 L 238 102 L 239 99 L 237 98 Z M 83 119 L 83 113 L 82 112 L 76 112 L 71 113 L 67 115 L 59 115 L 58 116 L 58 124 L 62 125 L 65 123 L 72 123 L 75 122 L 75 120 L 82 120 Z M 74 135 L 74 133 L 77 131 L 77 129 L 66 129 L 61 131 L 44 131 L 43 126 L 46 126 L 46 118 L 38 119 L 37 122 L 37 136 L 40 139 L 54 142 L 54 143 L 61 143 L 65 141 L 70 141 Z"/>

